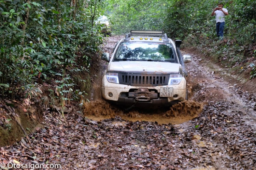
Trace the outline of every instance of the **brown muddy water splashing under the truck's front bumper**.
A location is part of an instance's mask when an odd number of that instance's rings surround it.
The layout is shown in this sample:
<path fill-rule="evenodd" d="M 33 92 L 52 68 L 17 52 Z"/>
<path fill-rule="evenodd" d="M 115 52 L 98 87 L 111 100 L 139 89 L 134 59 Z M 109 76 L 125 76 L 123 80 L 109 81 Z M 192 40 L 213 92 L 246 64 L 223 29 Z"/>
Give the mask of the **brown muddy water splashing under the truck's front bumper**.
<path fill-rule="evenodd" d="M 159 124 L 181 124 L 197 117 L 203 109 L 203 104 L 195 101 L 184 101 L 169 109 L 151 111 L 134 108 L 125 112 L 124 108 L 118 108 L 104 100 L 90 101 L 84 103 L 84 106 L 84 116 L 92 120 L 101 121 L 119 116 L 127 121 L 150 121 Z"/>

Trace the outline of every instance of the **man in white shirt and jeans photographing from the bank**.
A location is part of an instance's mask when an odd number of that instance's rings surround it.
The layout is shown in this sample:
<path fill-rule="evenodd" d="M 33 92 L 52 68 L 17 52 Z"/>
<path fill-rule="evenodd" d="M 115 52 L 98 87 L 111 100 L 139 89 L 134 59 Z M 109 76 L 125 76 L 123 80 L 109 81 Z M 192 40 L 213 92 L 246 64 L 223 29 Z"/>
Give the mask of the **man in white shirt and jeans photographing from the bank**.
<path fill-rule="evenodd" d="M 228 15 L 228 10 L 223 8 L 223 3 L 218 3 L 218 7 L 215 8 L 211 16 L 216 15 L 216 33 L 217 37 L 223 39 L 223 32 L 225 26 L 225 16 Z"/>

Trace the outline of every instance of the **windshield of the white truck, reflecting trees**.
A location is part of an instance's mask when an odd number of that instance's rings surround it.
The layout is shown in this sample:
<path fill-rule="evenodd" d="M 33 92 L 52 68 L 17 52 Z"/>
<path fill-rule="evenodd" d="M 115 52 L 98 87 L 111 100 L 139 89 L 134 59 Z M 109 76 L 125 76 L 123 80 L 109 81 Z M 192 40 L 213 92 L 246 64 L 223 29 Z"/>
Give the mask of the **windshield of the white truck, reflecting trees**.
<path fill-rule="evenodd" d="M 178 63 L 170 43 L 122 42 L 114 57 L 114 61 L 135 60 Z"/>

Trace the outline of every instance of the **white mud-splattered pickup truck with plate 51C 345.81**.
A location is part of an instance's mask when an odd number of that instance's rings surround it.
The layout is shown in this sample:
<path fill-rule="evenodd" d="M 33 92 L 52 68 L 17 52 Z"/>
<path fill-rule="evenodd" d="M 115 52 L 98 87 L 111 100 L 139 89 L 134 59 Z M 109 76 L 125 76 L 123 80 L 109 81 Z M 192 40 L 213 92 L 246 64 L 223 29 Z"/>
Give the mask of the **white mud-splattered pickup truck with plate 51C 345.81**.
<path fill-rule="evenodd" d="M 118 41 L 102 78 L 102 97 L 125 106 L 171 106 L 187 100 L 190 55 L 162 31 L 131 30 Z"/>

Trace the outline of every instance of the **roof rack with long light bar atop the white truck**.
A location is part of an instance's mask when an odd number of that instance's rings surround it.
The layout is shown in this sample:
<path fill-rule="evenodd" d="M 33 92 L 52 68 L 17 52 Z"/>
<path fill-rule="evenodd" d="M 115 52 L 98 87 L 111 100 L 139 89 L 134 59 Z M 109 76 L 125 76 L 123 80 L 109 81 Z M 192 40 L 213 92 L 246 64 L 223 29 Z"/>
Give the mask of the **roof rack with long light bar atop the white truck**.
<path fill-rule="evenodd" d="M 130 33 L 126 34 L 125 41 L 129 41 L 129 37 L 132 35 L 144 35 L 144 36 L 152 36 L 152 37 L 164 37 L 163 41 L 168 41 L 167 34 L 161 30 L 153 31 L 153 30 L 131 30 Z"/>

